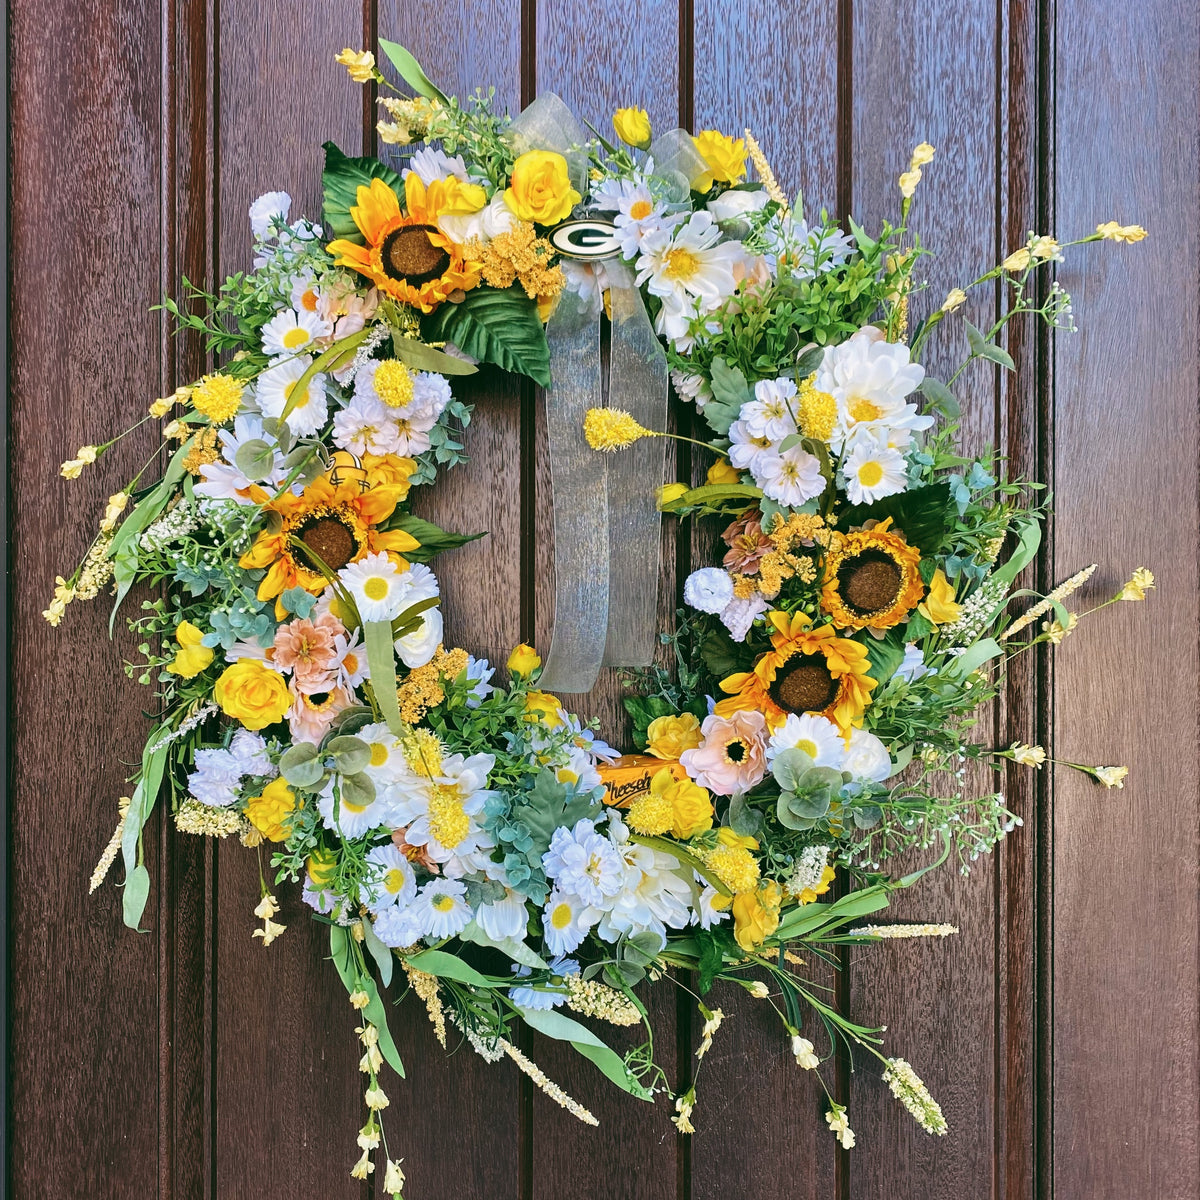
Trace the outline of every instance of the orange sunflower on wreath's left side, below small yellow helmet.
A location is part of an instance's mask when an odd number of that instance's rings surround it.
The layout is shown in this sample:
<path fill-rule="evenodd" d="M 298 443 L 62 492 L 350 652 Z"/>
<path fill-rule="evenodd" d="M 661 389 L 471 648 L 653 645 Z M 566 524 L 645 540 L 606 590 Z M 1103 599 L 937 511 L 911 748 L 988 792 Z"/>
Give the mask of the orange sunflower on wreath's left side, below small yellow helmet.
<path fill-rule="evenodd" d="M 330 571 L 338 571 L 347 563 L 382 551 L 397 565 L 406 565 L 400 556 L 416 550 L 420 542 L 402 529 L 378 528 L 391 516 L 400 494 L 396 487 L 364 492 L 358 480 L 334 484 L 328 475 L 314 480 L 300 496 L 284 492 L 272 498 L 262 488 L 253 488 L 251 496 L 266 512 L 266 528 L 241 556 L 239 565 L 269 568 L 258 584 L 258 599 L 270 600 L 298 587 L 313 594 L 324 592 L 329 581 L 318 559 Z M 282 619 L 278 602 L 276 614 Z"/>

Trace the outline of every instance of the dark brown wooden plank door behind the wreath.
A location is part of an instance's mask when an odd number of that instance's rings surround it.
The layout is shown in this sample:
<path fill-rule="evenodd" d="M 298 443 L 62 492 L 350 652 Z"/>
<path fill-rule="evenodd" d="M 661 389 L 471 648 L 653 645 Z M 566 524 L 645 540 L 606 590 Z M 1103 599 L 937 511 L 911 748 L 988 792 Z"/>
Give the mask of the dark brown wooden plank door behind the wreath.
<path fill-rule="evenodd" d="M 743 1195 L 1194 1196 L 1198 1162 L 1195 200 L 1200 19 L 1182 0 L 11 0 L 8 6 L 7 1184 L 41 1196 L 295 1195 L 366 1200 L 353 1014 L 323 941 L 288 899 L 284 938 L 252 942 L 257 865 L 161 822 L 150 934 L 86 880 L 140 746 L 145 695 L 101 612 L 41 619 L 85 545 L 104 474 L 58 463 L 200 370 L 148 310 L 187 275 L 247 265 L 246 209 L 286 188 L 318 211 L 319 144 L 373 149 L 370 95 L 334 54 L 376 32 L 448 90 L 512 109 L 559 92 L 602 127 L 617 104 L 660 128 L 750 125 L 806 202 L 884 212 L 908 149 L 938 149 L 919 208 L 940 251 L 931 295 L 1026 230 L 1140 221 L 1136 253 L 1064 265 L 1081 332 L 1015 329 L 1018 382 L 976 372 L 977 443 L 1051 484 L 1039 583 L 1100 560 L 1103 598 L 1139 565 L 1159 590 L 1012 674 L 997 742 L 1040 740 L 1132 768 L 1122 791 L 1014 770 L 1025 827 L 968 877 L 900 912 L 949 942 L 857 952 L 836 988 L 889 1026 L 946 1109 L 926 1138 L 877 1074 L 839 1062 L 858 1147 L 750 1003 L 704 1069 L 698 1133 L 610 1090 L 552 1046 L 547 1072 L 601 1118 L 575 1124 L 510 1064 L 444 1060 L 419 1007 L 394 1019 L 409 1079 L 389 1088 L 415 1200 Z M 427 515 L 491 536 L 444 560 L 449 634 L 502 658 L 544 648 L 551 545 L 541 401 L 496 374 L 472 388 L 472 466 Z M 683 420 L 684 418 L 680 418 Z M 140 462 L 152 433 L 118 451 Z M 680 461 L 686 472 L 689 463 Z M 116 468 L 114 468 L 113 478 Z M 661 610 L 692 545 L 664 532 Z M 1087 595 L 1085 595 L 1085 601 Z M 568 697 L 619 740 L 617 682 Z M 160 814 L 161 817 L 161 814 Z M 656 996 L 660 1054 L 686 1079 L 696 1031 Z"/>

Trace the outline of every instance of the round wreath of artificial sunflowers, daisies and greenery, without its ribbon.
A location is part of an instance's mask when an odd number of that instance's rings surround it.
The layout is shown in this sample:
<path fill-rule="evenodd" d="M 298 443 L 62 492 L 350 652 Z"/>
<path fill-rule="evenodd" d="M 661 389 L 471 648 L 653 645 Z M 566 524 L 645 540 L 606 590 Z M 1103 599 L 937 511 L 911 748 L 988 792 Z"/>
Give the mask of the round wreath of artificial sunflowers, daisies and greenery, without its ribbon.
<path fill-rule="evenodd" d="M 920 354 L 972 288 L 998 282 L 1003 316 L 962 322 L 966 361 L 1012 370 L 997 344 L 1008 320 L 1073 328 L 1069 298 L 1039 292 L 1034 272 L 1066 246 L 1145 232 L 1031 235 L 910 330 L 925 251 L 907 218 L 929 145 L 900 175 L 899 224 L 846 233 L 790 204 L 749 131 L 704 131 L 688 139 L 691 168 L 664 169 L 646 114 L 622 109 L 617 140 L 596 134 L 570 163 L 515 146 L 490 97 L 461 104 L 380 46 L 415 92 L 380 101 L 402 169 L 326 146 L 322 224 L 289 222 L 283 193 L 260 197 L 253 270 L 167 302 L 218 365 L 150 406 L 144 420 L 169 418 L 166 468 L 146 478 L 156 454 L 109 498 L 46 613 L 58 625 L 106 587 L 118 607 L 134 583 L 161 589 L 130 619 L 143 660 L 127 667 L 157 688 L 161 716 L 92 888 L 120 854 L 138 925 L 142 830 L 160 797 L 180 830 L 236 836 L 276 886 L 300 887 L 362 1014 L 352 1174 L 373 1171 L 382 1144 L 392 1195 L 403 1172 L 382 1141 L 379 1073 L 403 1070 L 384 995 L 401 973 L 443 1045 L 512 1058 L 588 1123 L 517 1049 L 516 1024 L 652 1100 L 670 1088 L 641 985 L 691 971 L 701 996 L 726 980 L 770 1004 L 803 1069 L 820 1075 L 838 1039 L 876 1056 L 922 1127 L 944 1134 L 912 1067 L 840 1014 L 802 958 L 954 931 L 868 918 L 1019 823 L 998 791 L 965 790 L 965 766 L 1038 768 L 1045 754 L 972 742 L 971 714 L 1007 659 L 1072 631 L 1064 601 L 1093 568 L 1045 596 L 1015 588 L 1039 541 L 1034 485 L 956 448 L 958 373 L 935 380 Z M 370 53 L 338 61 L 386 83 Z M 617 256 L 563 259 L 550 234 L 572 216 L 608 222 Z M 426 564 L 469 535 L 409 509 L 414 487 L 464 457 L 470 412 L 451 380 L 484 362 L 550 384 L 545 319 L 564 288 L 600 302 L 618 262 L 715 456 L 703 486 L 661 487 L 660 508 L 722 529 L 720 562 L 689 576 L 662 635 L 676 668 L 641 672 L 626 701 L 632 756 L 539 690 L 530 647 L 506 680 L 446 648 Z M 661 431 L 610 408 L 588 413 L 586 434 L 618 451 Z M 82 448 L 62 474 L 116 440 Z M 1151 587 L 1139 569 L 1108 602 Z M 1122 786 L 1124 768 L 1066 766 Z M 914 847 L 932 862 L 895 877 Z M 264 947 L 284 932 L 278 913 L 264 883 Z M 702 1060 L 722 1013 L 698 1007 Z M 577 1016 L 643 1026 L 644 1039 L 618 1054 Z M 695 1084 L 673 1102 L 690 1133 Z M 827 1121 L 853 1145 L 832 1096 Z"/>

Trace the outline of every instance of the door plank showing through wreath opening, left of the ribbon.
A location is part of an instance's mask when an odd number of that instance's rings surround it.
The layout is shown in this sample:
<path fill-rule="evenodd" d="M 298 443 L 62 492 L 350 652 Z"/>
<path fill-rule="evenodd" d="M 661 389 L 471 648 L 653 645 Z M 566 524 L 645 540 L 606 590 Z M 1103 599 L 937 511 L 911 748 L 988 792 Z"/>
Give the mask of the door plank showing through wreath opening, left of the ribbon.
<path fill-rule="evenodd" d="M 458 36 L 445 37 L 450 23 Z M 496 106 L 516 110 L 520 98 L 518 0 L 458 0 L 434 23 L 400 0 L 382 0 L 378 30 L 416 56 L 443 91 L 466 100 L 497 89 Z M 389 71 L 386 64 L 384 71 Z M 390 158 L 391 148 L 380 148 Z M 521 640 L 521 420 L 520 385 L 496 368 L 456 380 L 455 394 L 475 406 L 464 438 L 469 461 L 414 493 L 414 511 L 443 528 L 487 538 L 439 557 L 446 644 L 463 646 L 502 668 Z M 437 1044 L 421 1002 L 410 996 L 395 1012 L 392 1032 L 409 1078 L 389 1092 L 389 1139 L 404 1156 L 413 1195 L 517 1195 L 522 1164 L 522 1087 L 508 1061 L 488 1066 L 466 1044 L 450 1057 Z M 450 1030 L 450 1048 L 458 1036 Z M 481 1115 L 463 1124 L 463 1114 Z M 407 1189 L 407 1190 L 408 1190 Z M 380 1181 L 376 1180 L 376 1190 Z"/>

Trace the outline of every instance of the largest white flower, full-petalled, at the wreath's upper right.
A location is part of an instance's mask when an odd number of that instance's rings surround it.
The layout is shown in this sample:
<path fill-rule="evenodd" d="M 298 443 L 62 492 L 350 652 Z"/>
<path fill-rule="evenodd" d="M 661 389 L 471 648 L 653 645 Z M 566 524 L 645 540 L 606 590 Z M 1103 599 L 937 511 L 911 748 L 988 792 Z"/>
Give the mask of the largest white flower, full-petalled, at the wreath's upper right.
<path fill-rule="evenodd" d="M 824 352 L 817 391 L 836 401 L 838 420 L 829 444 L 835 452 L 864 434 L 882 436 L 893 445 L 907 445 L 913 430 L 928 430 L 931 416 L 922 416 L 905 397 L 920 386 L 925 368 L 908 359 L 908 347 L 888 342 L 883 330 L 866 325 L 848 341 Z"/>

